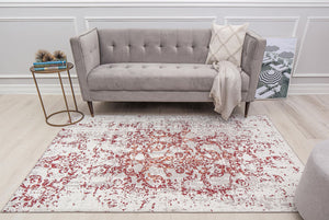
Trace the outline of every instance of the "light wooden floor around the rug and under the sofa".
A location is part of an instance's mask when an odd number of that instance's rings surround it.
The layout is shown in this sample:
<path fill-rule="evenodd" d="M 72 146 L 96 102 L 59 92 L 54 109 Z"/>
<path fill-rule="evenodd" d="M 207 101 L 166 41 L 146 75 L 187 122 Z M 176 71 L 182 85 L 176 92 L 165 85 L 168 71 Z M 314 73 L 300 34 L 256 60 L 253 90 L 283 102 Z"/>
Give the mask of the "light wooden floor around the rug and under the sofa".
<path fill-rule="evenodd" d="M 44 97 L 49 112 L 63 109 L 60 95 Z M 88 106 L 77 96 L 79 109 Z M 0 95 L 0 208 L 42 157 L 60 128 L 47 126 L 36 95 Z M 214 114 L 206 103 L 94 103 L 95 115 L 104 114 Z M 236 109 L 242 114 L 243 108 Z M 257 101 L 249 115 L 268 115 L 305 163 L 319 141 L 329 139 L 329 95 L 290 96 Z M 64 117 L 64 116 L 63 116 Z M 58 118 L 60 119 L 60 118 Z M 300 220 L 298 213 L 0 213 L 0 219 L 230 219 Z"/>

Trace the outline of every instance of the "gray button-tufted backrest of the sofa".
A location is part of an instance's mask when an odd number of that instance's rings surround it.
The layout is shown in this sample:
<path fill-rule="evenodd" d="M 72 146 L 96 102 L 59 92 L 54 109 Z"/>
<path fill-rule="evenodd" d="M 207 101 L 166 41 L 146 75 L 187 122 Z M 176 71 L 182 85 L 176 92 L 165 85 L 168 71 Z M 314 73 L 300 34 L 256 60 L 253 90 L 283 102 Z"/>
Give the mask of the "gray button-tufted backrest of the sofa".
<path fill-rule="evenodd" d="M 98 30 L 101 65 L 205 63 L 211 30 Z"/>

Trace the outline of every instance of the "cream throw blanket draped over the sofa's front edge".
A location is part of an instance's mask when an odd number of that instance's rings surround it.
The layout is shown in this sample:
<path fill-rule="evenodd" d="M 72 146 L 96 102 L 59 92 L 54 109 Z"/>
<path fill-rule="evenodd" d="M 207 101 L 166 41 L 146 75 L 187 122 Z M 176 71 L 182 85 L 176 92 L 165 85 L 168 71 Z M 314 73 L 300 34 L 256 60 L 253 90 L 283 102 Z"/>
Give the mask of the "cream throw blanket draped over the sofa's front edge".
<path fill-rule="evenodd" d="M 214 99 L 214 111 L 227 120 L 234 108 L 241 102 L 241 74 L 230 61 L 213 62 L 217 76 L 209 96 Z"/>

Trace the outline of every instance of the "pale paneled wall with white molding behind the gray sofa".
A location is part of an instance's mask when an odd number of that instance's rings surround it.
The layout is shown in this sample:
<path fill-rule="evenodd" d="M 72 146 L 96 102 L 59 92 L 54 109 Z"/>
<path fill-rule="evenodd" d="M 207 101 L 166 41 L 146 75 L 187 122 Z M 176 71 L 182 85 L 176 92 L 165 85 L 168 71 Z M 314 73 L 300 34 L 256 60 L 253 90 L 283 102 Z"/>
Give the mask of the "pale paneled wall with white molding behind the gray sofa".
<path fill-rule="evenodd" d="M 61 49 L 72 60 L 69 38 L 88 28 L 211 27 L 213 20 L 297 37 L 290 94 L 329 93 L 328 0 L 2 0 L 0 93 L 35 93 L 29 68 L 37 49 Z M 39 77 L 43 92 L 60 92 L 56 76 Z"/>

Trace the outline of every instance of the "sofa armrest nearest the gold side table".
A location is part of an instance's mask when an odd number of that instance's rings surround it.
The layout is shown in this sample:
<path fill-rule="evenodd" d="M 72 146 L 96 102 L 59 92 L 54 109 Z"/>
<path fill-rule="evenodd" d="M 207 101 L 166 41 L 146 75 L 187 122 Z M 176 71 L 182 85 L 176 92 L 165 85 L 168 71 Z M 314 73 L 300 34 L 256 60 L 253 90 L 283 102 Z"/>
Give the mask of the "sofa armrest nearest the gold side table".
<path fill-rule="evenodd" d="M 80 36 L 70 38 L 70 44 L 82 99 L 90 101 L 87 78 L 90 71 L 100 65 L 98 30 L 93 28 Z"/>

